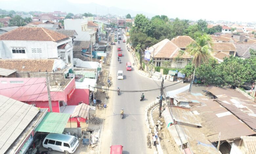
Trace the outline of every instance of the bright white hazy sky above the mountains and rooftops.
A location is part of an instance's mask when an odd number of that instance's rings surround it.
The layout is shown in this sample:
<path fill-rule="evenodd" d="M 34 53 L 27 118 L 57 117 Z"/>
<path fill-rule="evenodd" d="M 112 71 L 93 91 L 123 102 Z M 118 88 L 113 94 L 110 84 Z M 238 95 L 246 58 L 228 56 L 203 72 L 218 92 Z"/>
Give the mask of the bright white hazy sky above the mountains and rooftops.
<path fill-rule="evenodd" d="M 1 2 L 15 1 L 22 3 L 24 0 L 0 0 L 0 8 L 6 9 L 7 6 L 1 6 Z M 23 5 L 30 5 L 29 1 L 36 2 L 38 0 L 26 0 Z M 44 0 L 39 0 L 43 2 Z M 38 1 L 38 2 L 39 2 Z M 65 0 L 52 0 L 54 2 L 65 3 Z M 256 22 L 255 6 L 256 0 L 66 0 L 74 5 L 96 3 L 107 7 L 117 7 L 133 11 L 143 11 L 156 15 L 167 15 L 170 18 L 181 19 L 206 19 L 206 20 L 227 20 L 238 22 Z M 6 4 L 6 3 L 4 3 Z M 20 5 L 20 4 L 19 4 Z M 45 4 L 46 8 L 48 3 Z M 11 10 L 12 5 L 8 6 Z M 33 6 L 31 6 L 33 8 Z M 20 7 L 22 10 L 22 7 Z M 38 8 L 35 7 L 35 9 Z M 61 10 L 60 8 L 56 10 Z M 23 10 L 26 11 L 26 10 Z M 53 11 L 53 10 L 41 10 Z M 65 10 L 61 10 L 65 11 Z M 86 11 L 85 11 L 86 12 Z M 84 13 L 84 12 L 80 12 Z M 93 13 L 93 12 L 92 12 Z M 107 14 L 107 12 L 106 12 Z"/>

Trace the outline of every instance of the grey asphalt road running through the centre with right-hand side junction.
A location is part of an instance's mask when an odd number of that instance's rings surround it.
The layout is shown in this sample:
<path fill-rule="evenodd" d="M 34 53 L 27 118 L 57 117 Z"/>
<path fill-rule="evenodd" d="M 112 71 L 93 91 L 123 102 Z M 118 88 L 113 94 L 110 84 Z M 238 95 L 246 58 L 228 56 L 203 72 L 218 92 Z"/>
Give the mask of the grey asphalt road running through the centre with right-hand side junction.
<path fill-rule="evenodd" d="M 121 33 L 121 31 L 120 31 Z M 108 103 L 108 113 L 106 124 L 102 135 L 101 153 L 109 153 L 111 145 L 123 145 L 124 154 L 147 153 L 146 144 L 146 126 L 144 121 L 145 107 L 155 100 L 160 94 L 160 90 L 143 92 L 145 99 L 139 101 L 142 92 L 122 92 L 122 90 L 147 90 L 159 88 L 161 81 L 155 81 L 151 78 L 139 74 L 136 66 L 132 66 L 132 71 L 126 71 L 126 62 L 134 63 L 131 53 L 126 49 L 126 43 L 122 40 L 125 36 L 122 35 L 120 44 L 114 46 L 110 76 L 113 78 L 113 86 L 110 89 L 120 88 L 120 95 L 117 92 L 110 91 L 110 99 Z M 117 47 L 121 47 L 123 56 L 121 64 L 117 61 Z M 117 71 L 123 70 L 124 79 L 117 80 Z M 165 82 L 164 85 L 171 85 L 176 82 Z M 167 88 L 167 91 L 174 90 L 185 86 L 185 84 L 177 84 Z M 120 110 L 124 109 L 124 118 L 120 118 Z"/>

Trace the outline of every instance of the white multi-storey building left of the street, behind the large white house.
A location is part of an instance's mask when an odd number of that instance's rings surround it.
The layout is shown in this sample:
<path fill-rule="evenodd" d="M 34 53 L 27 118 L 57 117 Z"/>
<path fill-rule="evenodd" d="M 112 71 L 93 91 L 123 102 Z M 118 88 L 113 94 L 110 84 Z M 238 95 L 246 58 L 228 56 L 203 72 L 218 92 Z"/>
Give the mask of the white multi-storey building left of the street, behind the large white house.
<path fill-rule="evenodd" d="M 65 19 L 64 27 L 76 31 L 78 35 L 74 41 L 92 41 L 92 44 L 95 44 L 96 31 L 88 28 L 87 19 Z"/>

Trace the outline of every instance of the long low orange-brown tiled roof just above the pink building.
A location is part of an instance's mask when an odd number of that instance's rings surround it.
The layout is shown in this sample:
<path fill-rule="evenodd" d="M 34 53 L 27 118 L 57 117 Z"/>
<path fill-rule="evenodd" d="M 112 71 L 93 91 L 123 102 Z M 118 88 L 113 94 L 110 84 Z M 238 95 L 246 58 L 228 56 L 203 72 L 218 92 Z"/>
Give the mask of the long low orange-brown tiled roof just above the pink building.
<path fill-rule="evenodd" d="M 0 59 L 0 68 L 19 72 L 51 72 L 54 59 Z"/>

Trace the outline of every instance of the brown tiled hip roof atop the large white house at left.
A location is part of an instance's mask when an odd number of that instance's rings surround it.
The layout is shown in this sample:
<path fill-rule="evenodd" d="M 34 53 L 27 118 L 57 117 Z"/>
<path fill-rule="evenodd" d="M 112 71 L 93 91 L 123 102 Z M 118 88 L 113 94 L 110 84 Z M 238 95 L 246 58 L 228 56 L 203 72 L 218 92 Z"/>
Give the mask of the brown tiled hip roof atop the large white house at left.
<path fill-rule="evenodd" d="M 69 37 L 49 30 L 38 27 L 19 27 L 0 35 L 0 40 L 22 40 L 22 41 L 53 41 L 58 42 Z"/>

